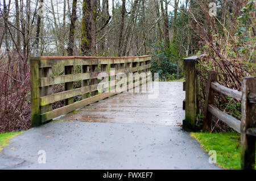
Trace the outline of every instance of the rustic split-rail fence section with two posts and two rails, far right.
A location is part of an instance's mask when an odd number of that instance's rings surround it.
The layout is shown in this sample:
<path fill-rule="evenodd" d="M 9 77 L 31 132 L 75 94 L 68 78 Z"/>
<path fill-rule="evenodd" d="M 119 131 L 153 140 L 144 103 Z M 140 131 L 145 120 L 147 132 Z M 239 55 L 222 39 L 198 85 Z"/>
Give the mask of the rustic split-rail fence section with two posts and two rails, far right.
<path fill-rule="evenodd" d="M 230 128 L 241 134 L 241 168 L 254 169 L 255 136 L 256 136 L 256 78 L 245 77 L 242 80 L 241 92 L 229 89 L 217 82 L 217 71 L 210 71 L 206 87 L 203 131 L 210 131 L 212 115 L 223 121 Z M 222 112 L 214 104 L 214 92 L 241 101 L 241 121 Z"/>

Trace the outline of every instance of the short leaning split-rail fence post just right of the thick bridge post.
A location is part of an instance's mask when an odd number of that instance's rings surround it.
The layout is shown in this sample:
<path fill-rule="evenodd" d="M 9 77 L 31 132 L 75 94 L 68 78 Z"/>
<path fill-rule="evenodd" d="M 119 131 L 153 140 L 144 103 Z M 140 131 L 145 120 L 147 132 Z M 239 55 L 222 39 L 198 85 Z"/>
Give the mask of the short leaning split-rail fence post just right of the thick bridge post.
<path fill-rule="evenodd" d="M 214 81 L 217 81 L 217 71 L 210 71 L 208 74 L 208 81 L 205 87 L 205 106 L 204 106 L 204 125 L 203 131 L 210 132 L 210 127 L 212 125 L 212 114 L 207 111 L 208 104 L 214 103 L 214 90 L 210 88 L 210 84 Z"/>

